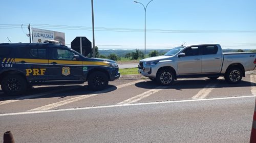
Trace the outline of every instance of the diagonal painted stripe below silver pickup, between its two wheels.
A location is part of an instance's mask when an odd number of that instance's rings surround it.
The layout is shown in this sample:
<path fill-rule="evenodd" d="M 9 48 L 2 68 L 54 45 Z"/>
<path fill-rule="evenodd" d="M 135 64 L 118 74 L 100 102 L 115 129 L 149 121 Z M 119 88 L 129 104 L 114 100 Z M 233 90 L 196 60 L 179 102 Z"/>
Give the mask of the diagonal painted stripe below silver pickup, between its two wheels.
<path fill-rule="evenodd" d="M 219 77 L 218 79 L 224 79 L 223 77 Z M 216 82 L 214 80 L 210 81 L 208 84 L 205 85 L 205 87 L 200 90 L 196 95 L 194 95 L 192 97 L 192 99 L 204 99 L 206 98 L 209 93 L 214 90 L 217 87 L 217 83 L 212 83 L 212 82 Z"/>

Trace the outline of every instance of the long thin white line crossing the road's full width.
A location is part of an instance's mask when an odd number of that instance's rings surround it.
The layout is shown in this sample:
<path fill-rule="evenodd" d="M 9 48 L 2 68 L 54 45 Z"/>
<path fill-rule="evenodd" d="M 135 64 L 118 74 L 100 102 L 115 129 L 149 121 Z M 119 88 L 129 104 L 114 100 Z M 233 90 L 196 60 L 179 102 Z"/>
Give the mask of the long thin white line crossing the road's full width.
<path fill-rule="evenodd" d="M 138 106 L 138 105 L 153 105 L 153 104 L 170 104 L 170 103 L 198 102 L 198 101 L 214 101 L 214 100 L 255 98 L 255 97 L 256 97 L 256 95 L 250 95 L 250 96 L 236 96 L 236 97 L 223 97 L 223 98 L 208 98 L 208 99 L 191 99 L 191 100 L 179 100 L 179 101 L 163 101 L 163 102 L 120 104 L 120 105 L 95 106 L 95 107 L 83 107 L 83 108 L 69 108 L 69 109 L 46 110 L 46 111 L 26 111 L 26 112 L 16 112 L 16 113 L 2 113 L 2 114 L 0 114 L 0 116 L 28 115 L 28 114 L 34 114 L 34 113 L 48 113 L 48 112 L 58 112 L 58 111 L 72 111 L 72 110 L 86 110 L 86 109 L 99 109 L 99 108 L 111 108 L 111 107 Z"/>

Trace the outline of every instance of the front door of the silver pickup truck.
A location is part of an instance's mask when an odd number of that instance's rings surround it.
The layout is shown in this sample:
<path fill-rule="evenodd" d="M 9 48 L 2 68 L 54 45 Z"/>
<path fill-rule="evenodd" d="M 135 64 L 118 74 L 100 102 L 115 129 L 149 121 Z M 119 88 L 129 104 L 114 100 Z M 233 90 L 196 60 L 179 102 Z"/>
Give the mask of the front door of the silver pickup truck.
<path fill-rule="evenodd" d="M 179 74 L 201 74 L 202 72 L 202 60 L 199 52 L 199 47 L 188 47 L 182 52 L 185 56 L 178 57 L 178 73 Z"/>

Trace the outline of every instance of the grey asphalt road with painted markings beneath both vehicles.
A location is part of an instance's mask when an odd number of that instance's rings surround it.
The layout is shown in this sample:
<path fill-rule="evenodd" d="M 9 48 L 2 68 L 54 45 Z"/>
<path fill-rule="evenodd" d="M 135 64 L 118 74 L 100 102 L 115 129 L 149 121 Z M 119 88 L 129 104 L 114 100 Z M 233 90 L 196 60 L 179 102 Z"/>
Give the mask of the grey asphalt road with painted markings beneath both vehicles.
<path fill-rule="evenodd" d="M 151 80 L 0 91 L 0 130 L 16 142 L 249 142 L 255 75 L 239 84 L 191 78 L 162 87 Z M 1 140 L 0 142 L 3 142 Z"/>

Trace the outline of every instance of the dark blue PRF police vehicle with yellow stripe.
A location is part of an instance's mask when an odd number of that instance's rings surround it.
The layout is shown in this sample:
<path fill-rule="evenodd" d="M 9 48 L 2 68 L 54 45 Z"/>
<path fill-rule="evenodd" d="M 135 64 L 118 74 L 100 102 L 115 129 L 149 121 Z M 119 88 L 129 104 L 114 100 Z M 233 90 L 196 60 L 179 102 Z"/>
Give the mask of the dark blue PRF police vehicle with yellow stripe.
<path fill-rule="evenodd" d="M 33 85 L 79 84 L 88 81 L 91 90 L 103 90 L 120 77 L 112 60 L 86 58 L 57 44 L 0 44 L 0 83 L 4 93 L 19 95 Z"/>

